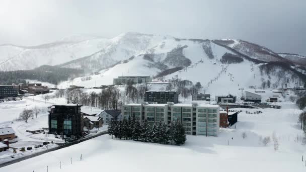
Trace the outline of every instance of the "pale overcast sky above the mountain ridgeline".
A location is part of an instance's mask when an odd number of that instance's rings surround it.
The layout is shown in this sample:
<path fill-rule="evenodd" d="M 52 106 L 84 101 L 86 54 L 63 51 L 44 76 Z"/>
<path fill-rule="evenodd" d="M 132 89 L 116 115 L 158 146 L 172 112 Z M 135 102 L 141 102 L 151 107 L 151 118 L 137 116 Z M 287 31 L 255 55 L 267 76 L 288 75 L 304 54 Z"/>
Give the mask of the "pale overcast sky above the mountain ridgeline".
<path fill-rule="evenodd" d="M 306 55 L 306 0 L 0 1 L 0 44 L 124 32 L 232 38 Z"/>

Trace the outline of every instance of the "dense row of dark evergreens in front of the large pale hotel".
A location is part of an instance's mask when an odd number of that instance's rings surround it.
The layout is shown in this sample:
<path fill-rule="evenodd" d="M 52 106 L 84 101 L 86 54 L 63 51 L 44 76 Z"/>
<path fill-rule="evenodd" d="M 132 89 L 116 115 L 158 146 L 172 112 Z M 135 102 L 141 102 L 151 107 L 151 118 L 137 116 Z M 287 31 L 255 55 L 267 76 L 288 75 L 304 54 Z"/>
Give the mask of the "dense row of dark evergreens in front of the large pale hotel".
<path fill-rule="evenodd" d="M 146 120 L 141 124 L 135 115 L 121 121 L 111 120 L 108 125 L 108 134 L 119 139 L 134 140 L 160 144 L 182 145 L 186 141 L 185 129 L 180 121 L 169 125 L 160 122 L 150 126 Z"/>

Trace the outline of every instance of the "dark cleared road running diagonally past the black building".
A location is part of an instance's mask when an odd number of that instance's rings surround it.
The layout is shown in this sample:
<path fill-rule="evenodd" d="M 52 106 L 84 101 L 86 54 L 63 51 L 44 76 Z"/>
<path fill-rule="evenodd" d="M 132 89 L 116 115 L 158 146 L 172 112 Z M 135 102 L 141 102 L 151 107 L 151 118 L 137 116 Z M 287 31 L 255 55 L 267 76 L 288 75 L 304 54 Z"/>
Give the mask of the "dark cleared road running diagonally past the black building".
<path fill-rule="evenodd" d="M 69 146 L 72 146 L 74 144 L 78 144 L 78 143 L 84 142 L 86 140 L 89 140 L 89 139 L 92 139 L 92 138 L 95 138 L 95 137 L 98 137 L 98 136 L 102 136 L 102 135 L 105 135 L 105 134 L 107 134 L 107 131 L 103 131 L 103 132 L 101 132 L 99 134 L 96 134 L 96 135 L 93 135 L 93 136 L 84 137 L 84 138 L 81 138 L 79 140 L 68 142 L 68 143 L 60 145 L 58 147 L 54 147 L 54 148 L 51 148 L 51 149 L 48 149 L 48 150 L 44 150 L 44 151 L 41 151 L 41 152 L 33 153 L 31 155 L 28 155 L 28 156 L 24 156 L 24 157 L 21 157 L 21 158 L 18 158 L 18 159 L 14 159 L 14 160 L 11 160 L 11 161 L 8 161 L 8 162 L 4 162 L 4 163 L 0 164 L 0 168 L 2 168 L 4 166 L 7 166 L 7 165 L 11 165 L 13 163 L 17 163 L 17 162 L 29 159 L 29 158 L 32 158 L 32 157 L 35 157 L 35 156 L 42 155 L 42 154 L 47 153 L 47 152 L 51 152 L 51 151 L 54 151 L 54 150 L 62 149 L 62 148 L 65 148 L 65 147 L 69 147 Z"/>

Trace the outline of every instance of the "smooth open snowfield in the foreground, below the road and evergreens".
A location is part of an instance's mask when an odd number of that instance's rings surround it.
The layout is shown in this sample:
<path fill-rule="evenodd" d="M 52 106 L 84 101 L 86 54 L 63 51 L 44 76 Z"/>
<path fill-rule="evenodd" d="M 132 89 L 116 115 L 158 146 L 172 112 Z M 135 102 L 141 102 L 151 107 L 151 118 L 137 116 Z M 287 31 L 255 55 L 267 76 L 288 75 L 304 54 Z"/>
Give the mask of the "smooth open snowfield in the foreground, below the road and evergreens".
<path fill-rule="evenodd" d="M 297 123 L 301 111 L 292 103 L 280 104 L 286 106 L 261 109 L 263 113 L 257 115 L 245 113 L 255 109 L 234 109 L 242 110 L 235 126 L 221 128 L 218 137 L 188 135 L 182 146 L 118 140 L 103 135 L 0 171 L 46 171 L 47 166 L 49 171 L 84 171 L 100 169 L 101 165 L 107 171 L 304 171 L 301 156 L 305 156 L 306 149 Z M 246 138 L 242 138 L 244 132 Z M 279 143 L 276 151 L 273 132 Z M 271 137 L 267 146 L 261 141 L 266 136 Z"/>

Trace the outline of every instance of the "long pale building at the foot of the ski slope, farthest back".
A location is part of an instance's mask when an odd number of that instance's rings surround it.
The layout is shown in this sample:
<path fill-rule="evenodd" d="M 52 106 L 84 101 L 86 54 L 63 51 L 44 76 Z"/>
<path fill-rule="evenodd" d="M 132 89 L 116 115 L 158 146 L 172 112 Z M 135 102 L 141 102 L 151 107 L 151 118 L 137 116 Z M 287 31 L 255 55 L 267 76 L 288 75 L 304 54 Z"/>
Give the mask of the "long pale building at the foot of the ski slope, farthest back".
<path fill-rule="evenodd" d="M 113 78 L 113 85 L 127 84 L 128 82 L 136 84 L 151 81 L 152 78 L 150 76 L 118 76 L 118 78 Z"/>

